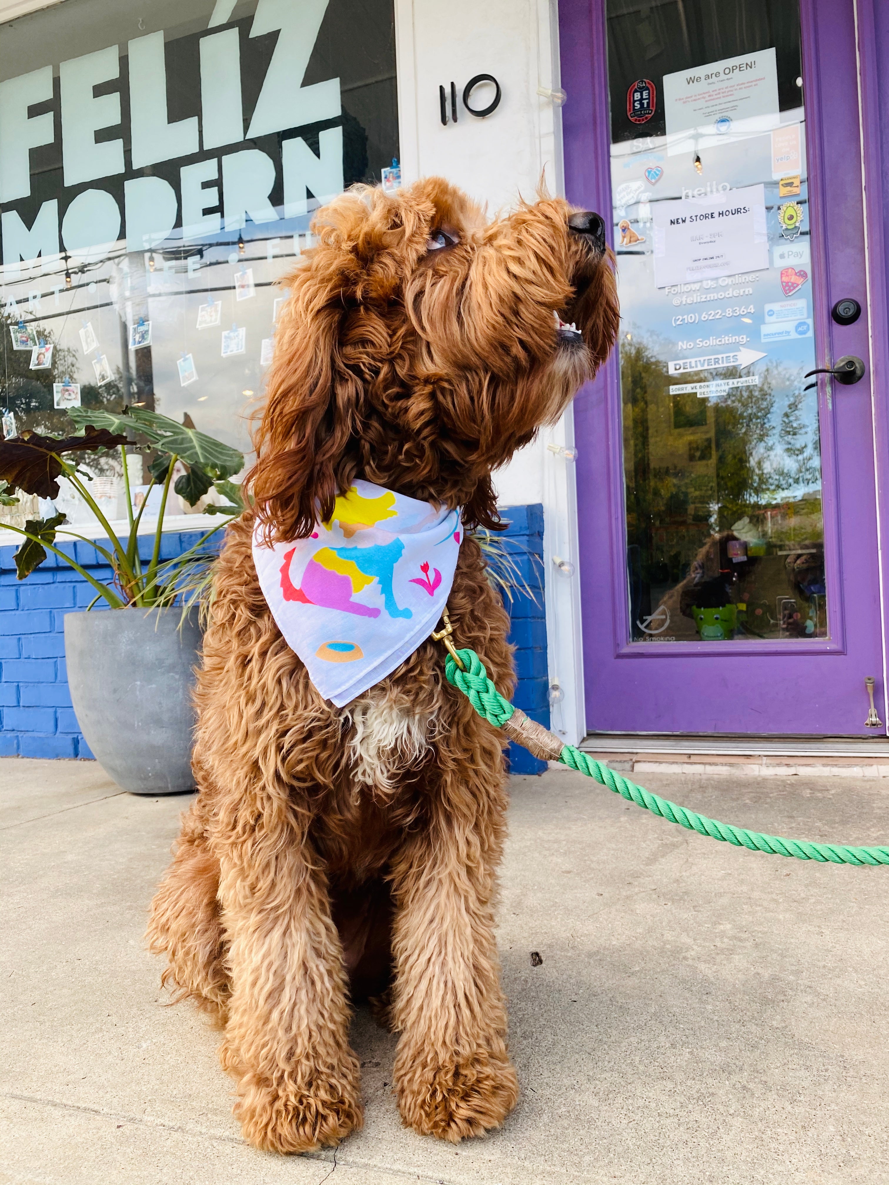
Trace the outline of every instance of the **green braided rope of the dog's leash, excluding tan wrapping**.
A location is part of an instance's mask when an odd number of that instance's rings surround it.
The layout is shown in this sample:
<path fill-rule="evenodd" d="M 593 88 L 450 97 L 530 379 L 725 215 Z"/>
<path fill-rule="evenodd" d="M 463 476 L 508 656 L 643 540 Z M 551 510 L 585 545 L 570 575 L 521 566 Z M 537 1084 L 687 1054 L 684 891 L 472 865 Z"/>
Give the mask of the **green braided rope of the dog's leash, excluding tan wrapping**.
<path fill-rule="evenodd" d="M 444 674 L 448 683 L 458 687 L 472 706 L 494 728 L 503 728 L 516 709 L 499 693 L 488 678 L 485 664 L 475 651 L 458 649 L 456 653 L 466 667 L 461 671 L 452 654 L 444 660 Z M 805 839 L 782 839 L 780 835 L 763 835 L 746 827 L 733 827 L 730 824 L 708 819 L 696 811 L 677 806 L 658 794 L 644 790 L 641 786 L 631 782 L 628 777 L 601 761 L 581 752 L 574 745 L 562 747 L 558 758 L 569 769 L 576 769 L 587 777 L 594 779 L 608 787 L 614 794 L 620 794 L 627 802 L 651 811 L 670 822 L 676 822 L 698 835 L 709 835 L 735 847 L 747 847 L 752 852 L 767 852 L 770 856 L 791 856 L 798 860 L 818 860 L 820 864 L 889 864 L 889 847 L 851 847 L 846 844 L 812 844 Z"/>

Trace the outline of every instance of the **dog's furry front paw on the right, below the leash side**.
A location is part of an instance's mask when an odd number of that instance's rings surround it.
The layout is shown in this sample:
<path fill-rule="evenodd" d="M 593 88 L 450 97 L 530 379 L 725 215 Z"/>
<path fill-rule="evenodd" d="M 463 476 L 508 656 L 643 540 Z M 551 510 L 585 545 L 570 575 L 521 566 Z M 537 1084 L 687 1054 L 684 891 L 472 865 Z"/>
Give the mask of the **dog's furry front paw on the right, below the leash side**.
<path fill-rule="evenodd" d="M 399 1050 L 398 1107 L 407 1127 L 456 1144 L 499 1127 L 518 1098 L 516 1070 L 500 1045 L 444 1064 L 423 1050 Z"/>

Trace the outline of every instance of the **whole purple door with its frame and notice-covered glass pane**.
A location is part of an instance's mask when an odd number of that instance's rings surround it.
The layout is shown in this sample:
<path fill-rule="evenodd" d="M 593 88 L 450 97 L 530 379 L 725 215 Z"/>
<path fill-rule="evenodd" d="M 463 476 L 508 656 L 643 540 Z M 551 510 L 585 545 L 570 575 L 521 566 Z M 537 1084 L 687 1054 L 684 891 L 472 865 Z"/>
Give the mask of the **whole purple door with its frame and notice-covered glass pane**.
<path fill-rule="evenodd" d="M 590 732 L 885 736 L 855 17 L 561 0 L 565 188 L 623 314 L 575 402 Z"/>

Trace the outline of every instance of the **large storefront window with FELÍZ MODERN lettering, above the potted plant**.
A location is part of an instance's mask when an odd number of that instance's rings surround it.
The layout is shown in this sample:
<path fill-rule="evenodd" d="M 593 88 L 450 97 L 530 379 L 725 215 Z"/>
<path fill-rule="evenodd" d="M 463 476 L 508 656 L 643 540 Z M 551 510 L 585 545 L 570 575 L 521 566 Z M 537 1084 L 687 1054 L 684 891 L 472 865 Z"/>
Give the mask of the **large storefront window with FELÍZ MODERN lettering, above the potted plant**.
<path fill-rule="evenodd" d="M 5 433 L 188 416 L 249 450 L 313 210 L 397 184 L 392 0 L 66 0 L 0 30 Z"/>

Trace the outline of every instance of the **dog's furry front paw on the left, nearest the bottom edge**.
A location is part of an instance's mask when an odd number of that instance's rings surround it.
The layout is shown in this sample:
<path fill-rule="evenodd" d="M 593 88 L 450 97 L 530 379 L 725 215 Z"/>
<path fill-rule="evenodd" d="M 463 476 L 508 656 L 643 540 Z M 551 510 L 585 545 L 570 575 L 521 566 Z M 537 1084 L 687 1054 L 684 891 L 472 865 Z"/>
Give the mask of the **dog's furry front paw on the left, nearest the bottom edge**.
<path fill-rule="evenodd" d="M 339 1144 L 364 1121 L 357 1075 L 269 1082 L 248 1074 L 238 1095 L 235 1115 L 244 1139 L 267 1152 L 315 1152 Z"/>

